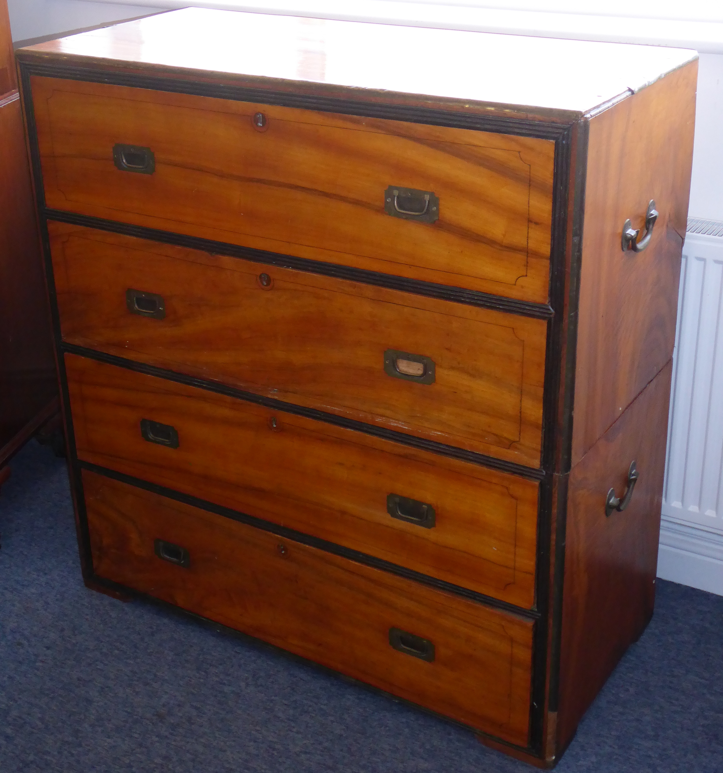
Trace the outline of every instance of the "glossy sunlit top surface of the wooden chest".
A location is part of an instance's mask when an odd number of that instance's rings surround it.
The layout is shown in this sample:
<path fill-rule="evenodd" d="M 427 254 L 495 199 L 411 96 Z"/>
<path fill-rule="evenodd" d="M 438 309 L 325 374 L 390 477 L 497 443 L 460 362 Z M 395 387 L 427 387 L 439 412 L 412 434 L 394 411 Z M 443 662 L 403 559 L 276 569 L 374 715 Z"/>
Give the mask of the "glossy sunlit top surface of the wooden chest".
<path fill-rule="evenodd" d="M 594 114 L 697 58 L 694 51 L 656 46 L 197 8 L 40 43 L 18 55 L 296 94 L 375 101 L 408 95 L 401 101 L 448 109 L 483 104 L 488 114 L 553 121 Z"/>

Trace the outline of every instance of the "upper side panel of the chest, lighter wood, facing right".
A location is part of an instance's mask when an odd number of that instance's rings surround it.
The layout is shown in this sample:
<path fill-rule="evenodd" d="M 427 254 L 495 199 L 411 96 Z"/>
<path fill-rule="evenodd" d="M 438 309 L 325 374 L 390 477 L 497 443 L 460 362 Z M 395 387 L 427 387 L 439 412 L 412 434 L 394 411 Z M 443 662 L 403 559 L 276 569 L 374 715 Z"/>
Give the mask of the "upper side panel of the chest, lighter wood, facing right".
<path fill-rule="evenodd" d="M 696 79 L 693 62 L 590 121 L 573 466 L 673 355 Z M 650 246 L 623 253 L 650 199 Z"/>

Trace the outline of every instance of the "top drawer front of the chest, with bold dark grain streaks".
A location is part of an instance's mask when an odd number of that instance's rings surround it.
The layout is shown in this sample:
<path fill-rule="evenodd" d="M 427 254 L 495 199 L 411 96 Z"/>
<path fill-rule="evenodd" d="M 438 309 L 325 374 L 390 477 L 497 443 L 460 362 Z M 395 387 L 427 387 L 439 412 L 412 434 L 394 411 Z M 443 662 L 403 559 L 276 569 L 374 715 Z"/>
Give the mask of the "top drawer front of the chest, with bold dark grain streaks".
<path fill-rule="evenodd" d="M 553 141 L 44 77 L 32 96 L 50 207 L 547 302 Z"/>

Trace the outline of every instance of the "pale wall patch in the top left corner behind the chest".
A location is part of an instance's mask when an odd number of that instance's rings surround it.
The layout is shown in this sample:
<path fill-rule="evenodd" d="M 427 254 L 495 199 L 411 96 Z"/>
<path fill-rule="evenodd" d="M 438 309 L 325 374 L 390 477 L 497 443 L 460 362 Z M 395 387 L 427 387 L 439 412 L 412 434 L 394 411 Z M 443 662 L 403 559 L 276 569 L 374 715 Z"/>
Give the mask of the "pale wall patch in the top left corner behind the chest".
<path fill-rule="evenodd" d="M 104 22 L 133 19 L 160 9 L 84 0 L 8 0 L 13 40 L 55 35 Z"/>

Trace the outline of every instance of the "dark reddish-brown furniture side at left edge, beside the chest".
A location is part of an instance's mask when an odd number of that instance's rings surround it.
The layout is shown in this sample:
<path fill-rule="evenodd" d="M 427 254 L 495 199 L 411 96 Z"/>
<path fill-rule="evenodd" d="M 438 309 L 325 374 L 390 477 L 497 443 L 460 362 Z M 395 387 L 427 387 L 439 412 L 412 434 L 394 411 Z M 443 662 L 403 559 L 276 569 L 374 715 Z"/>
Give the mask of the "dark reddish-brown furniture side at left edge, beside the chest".
<path fill-rule="evenodd" d="M 53 339 L 17 93 L 0 102 L 0 465 L 57 398 Z"/>

